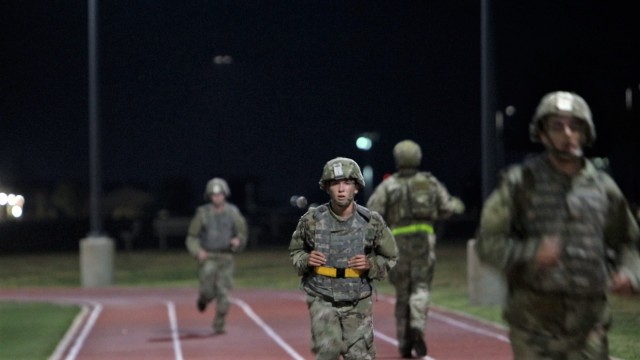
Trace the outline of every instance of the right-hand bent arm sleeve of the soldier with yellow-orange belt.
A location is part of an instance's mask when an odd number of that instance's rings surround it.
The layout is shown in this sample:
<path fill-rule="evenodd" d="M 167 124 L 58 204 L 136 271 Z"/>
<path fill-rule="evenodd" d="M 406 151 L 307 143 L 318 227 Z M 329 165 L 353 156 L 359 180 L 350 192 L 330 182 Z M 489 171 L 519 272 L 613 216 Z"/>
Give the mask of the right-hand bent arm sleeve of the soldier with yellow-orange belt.
<path fill-rule="evenodd" d="M 378 213 L 372 212 L 371 224 L 375 231 L 375 242 L 369 256 L 369 277 L 382 280 L 387 277 L 398 261 L 398 247 L 391 230 Z"/>

